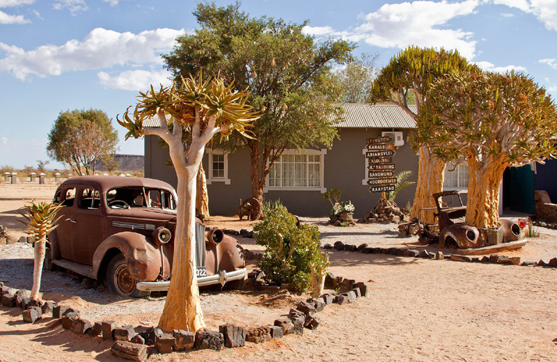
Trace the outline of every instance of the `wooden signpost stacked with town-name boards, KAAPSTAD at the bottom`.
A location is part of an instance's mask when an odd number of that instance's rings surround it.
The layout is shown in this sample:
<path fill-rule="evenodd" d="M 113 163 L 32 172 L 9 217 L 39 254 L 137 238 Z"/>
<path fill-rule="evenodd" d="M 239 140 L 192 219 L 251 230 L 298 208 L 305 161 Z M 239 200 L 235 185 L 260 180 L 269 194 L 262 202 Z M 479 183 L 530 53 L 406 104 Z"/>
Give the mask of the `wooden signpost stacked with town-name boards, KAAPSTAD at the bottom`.
<path fill-rule="evenodd" d="M 381 197 L 386 198 L 385 192 L 395 191 L 395 164 L 392 163 L 395 144 L 390 136 L 366 139 L 366 143 L 369 191 L 381 192 Z"/>

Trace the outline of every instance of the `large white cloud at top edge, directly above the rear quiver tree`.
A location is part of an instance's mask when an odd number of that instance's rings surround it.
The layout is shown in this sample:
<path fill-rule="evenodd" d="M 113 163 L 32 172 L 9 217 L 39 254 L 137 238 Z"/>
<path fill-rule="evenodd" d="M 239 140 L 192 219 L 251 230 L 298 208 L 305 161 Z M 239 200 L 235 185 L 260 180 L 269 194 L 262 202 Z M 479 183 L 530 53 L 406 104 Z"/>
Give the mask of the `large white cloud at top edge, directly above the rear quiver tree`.
<path fill-rule="evenodd" d="M 449 3 L 448 1 L 414 1 L 384 4 L 374 13 L 362 15 L 363 23 L 352 31 L 335 31 L 330 26 L 306 26 L 314 35 L 329 34 L 347 40 L 363 40 L 378 47 L 403 49 L 409 45 L 457 49 L 466 58 L 476 55 L 473 33 L 448 29 L 455 17 L 474 13 L 478 0 Z"/>

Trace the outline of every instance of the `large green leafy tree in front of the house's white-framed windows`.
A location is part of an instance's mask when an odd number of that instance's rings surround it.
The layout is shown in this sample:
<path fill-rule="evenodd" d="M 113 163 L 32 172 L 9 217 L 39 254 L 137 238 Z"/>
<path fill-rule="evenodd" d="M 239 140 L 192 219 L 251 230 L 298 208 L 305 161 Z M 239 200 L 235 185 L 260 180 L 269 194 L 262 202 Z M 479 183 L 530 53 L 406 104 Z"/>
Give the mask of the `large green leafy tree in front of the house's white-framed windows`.
<path fill-rule="evenodd" d="M 262 202 L 267 175 L 284 150 L 331 145 L 334 120 L 340 120 L 340 109 L 331 104 L 339 91 L 331 66 L 351 61 L 354 46 L 315 41 L 302 32 L 307 22 L 249 17 L 240 3 L 199 3 L 194 16 L 200 29 L 177 39 L 173 52 L 163 56 L 166 68 L 176 76 L 203 68 L 251 94 L 250 104 L 262 112 L 253 122 L 253 138 L 232 135 L 217 147 L 249 149 L 251 196 Z"/>

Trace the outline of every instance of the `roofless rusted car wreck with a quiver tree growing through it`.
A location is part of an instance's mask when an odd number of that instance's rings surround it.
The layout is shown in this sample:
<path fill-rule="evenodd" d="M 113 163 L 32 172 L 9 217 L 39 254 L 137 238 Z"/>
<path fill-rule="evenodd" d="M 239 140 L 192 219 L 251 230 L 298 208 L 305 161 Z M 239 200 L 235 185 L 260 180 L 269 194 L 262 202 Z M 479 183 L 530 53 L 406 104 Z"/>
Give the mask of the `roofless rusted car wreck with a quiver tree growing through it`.
<path fill-rule="evenodd" d="M 436 207 L 426 207 L 418 214 L 419 235 L 428 244 L 439 242 L 439 248 L 478 249 L 524 239 L 518 223 L 499 219 L 498 228 L 476 228 L 464 223 L 467 191 L 443 191 L 432 195 Z M 422 212 L 435 210 L 437 224 L 420 220 Z"/>

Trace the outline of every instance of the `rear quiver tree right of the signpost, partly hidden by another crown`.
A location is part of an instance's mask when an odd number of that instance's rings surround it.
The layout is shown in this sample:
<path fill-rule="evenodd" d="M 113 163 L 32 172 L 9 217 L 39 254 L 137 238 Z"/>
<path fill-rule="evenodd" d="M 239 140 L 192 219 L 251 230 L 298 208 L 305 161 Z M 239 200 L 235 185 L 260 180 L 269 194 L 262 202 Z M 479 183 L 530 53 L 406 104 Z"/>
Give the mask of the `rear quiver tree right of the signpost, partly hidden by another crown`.
<path fill-rule="evenodd" d="M 399 52 L 379 72 L 369 95 L 370 102 L 397 104 L 416 120 L 418 131 L 422 125 L 416 117 L 430 93 L 432 82 L 451 71 L 476 69 L 457 51 L 444 49 L 408 47 Z M 415 105 L 409 104 L 414 100 Z M 432 194 L 443 189 L 445 162 L 431 154 L 427 143 L 414 136 L 409 137 L 412 148 L 418 153 L 418 184 L 410 217 L 418 217 L 424 207 L 435 207 Z M 421 214 L 421 219 L 434 223 L 433 210 Z"/>

